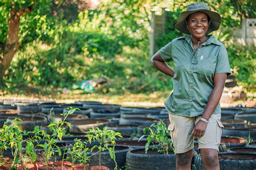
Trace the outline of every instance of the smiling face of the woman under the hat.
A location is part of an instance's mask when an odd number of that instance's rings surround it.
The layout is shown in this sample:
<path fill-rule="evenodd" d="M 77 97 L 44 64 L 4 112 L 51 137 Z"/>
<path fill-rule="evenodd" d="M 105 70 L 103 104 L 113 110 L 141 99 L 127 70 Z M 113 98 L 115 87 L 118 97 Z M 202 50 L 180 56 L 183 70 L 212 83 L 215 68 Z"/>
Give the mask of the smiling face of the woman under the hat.
<path fill-rule="evenodd" d="M 208 24 L 208 18 L 204 12 L 195 12 L 188 16 L 188 29 L 194 38 L 200 39 L 205 37 Z"/>

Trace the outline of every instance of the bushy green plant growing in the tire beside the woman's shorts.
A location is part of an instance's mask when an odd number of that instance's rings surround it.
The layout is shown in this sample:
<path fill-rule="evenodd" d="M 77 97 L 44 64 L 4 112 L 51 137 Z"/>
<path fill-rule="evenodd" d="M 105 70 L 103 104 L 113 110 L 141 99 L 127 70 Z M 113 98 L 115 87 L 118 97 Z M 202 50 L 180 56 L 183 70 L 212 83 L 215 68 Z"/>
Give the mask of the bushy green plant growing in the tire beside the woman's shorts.
<path fill-rule="evenodd" d="M 169 130 L 163 121 L 152 124 L 143 130 L 144 135 L 139 138 L 141 140 L 147 135 L 147 143 L 145 145 L 145 153 L 149 150 L 150 144 L 153 145 L 152 149 L 157 150 L 160 154 L 168 154 L 169 151 L 174 151 L 172 147 L 172 140 L 168 137 Z"/>

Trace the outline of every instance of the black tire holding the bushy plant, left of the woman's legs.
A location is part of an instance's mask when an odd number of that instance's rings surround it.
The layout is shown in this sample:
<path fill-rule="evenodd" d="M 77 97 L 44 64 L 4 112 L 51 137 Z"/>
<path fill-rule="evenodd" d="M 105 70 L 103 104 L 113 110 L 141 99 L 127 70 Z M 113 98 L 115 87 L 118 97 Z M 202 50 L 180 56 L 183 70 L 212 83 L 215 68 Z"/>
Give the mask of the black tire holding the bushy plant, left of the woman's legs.
<path fill-rule="evenodd" d="M 174 153 L 168 155 L 159 154 L 157 151 L 149 150 L 145 154 L 144 149 L 132 150 L 126 155 L 126 169 L 175 169 L 176 155 Z"/>

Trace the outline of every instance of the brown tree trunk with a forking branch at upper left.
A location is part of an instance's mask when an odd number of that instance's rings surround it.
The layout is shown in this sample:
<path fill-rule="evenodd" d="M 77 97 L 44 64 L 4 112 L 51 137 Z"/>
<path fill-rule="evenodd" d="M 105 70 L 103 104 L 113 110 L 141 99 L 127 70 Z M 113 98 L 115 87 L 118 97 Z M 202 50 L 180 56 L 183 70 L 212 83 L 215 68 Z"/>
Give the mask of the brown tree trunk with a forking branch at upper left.
<path fill-rule="evenodd" d="M 10 65 L 11 60 L 19 47 L 19 18 L 24 13 L 30 12 L 31 10 L 32 8 L 27 8 L 18 11 L 17 8 L 14 8 L 9 13 L 7 41 L 3 55 L 0 57 L 0 86 L 3 86 L 4 84 L 3 76 L 5 70 Z"/>

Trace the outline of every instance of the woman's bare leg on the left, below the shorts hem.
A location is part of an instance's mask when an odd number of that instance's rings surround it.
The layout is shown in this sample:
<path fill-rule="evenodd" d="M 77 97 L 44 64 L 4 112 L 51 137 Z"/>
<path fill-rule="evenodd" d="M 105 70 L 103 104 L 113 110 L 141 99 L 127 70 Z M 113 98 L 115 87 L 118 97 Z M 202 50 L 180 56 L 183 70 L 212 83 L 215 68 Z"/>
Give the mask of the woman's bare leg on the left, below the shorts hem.
<path fill-rule="evenodd" d="M 192 161 L 192 150 L 185 153 L 176 154 L 176 170 L 190 170 L 190 165 Z"/>

